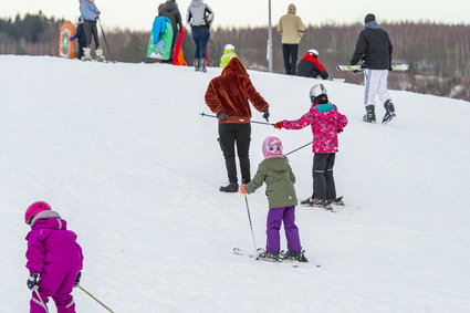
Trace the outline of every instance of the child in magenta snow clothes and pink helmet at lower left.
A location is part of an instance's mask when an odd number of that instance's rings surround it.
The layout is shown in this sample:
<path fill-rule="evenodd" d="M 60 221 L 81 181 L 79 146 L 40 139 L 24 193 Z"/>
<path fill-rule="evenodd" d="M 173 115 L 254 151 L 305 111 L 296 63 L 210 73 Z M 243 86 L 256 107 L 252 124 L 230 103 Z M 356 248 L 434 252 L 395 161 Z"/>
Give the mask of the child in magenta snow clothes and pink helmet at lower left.
<path fill-rule="evenodd" d="M 83 267 L 82 248 L 66 221 L 43 201 L 32 204 L 24 221 L 31 225 L 27 236 L 28 288 L 33 291 L 30 313 L 44 313 L 49 296 L 58 313 L 75 313 L 72 289 L 80 282 Z M 38 295 L 39 294 L 39 295 Z"/>

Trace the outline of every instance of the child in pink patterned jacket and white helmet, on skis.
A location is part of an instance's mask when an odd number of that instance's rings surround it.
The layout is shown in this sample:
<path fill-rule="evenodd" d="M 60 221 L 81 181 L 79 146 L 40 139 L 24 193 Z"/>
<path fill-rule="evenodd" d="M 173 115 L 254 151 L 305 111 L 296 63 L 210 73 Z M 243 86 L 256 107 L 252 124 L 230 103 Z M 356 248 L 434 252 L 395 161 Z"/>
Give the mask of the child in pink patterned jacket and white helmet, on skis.
<path fill-rule="evenodd" d="M 341 198 L 336 198 L 336 188 L 333 178 L 335 155 L 338 152 L 337 134 L 347 125 L 345 115 L 330 103 L 326 88 L 323 84 L 316 84 L 310 90 L 312 106 L 301 118 L 296 121 L 281 121 L 274 124 L 278 129 L 301 129 L 309 125 L 313 133 L 313 195 L 301 205 L 320 207 L 332 210 L 332 204 L 343 205 Z"/>

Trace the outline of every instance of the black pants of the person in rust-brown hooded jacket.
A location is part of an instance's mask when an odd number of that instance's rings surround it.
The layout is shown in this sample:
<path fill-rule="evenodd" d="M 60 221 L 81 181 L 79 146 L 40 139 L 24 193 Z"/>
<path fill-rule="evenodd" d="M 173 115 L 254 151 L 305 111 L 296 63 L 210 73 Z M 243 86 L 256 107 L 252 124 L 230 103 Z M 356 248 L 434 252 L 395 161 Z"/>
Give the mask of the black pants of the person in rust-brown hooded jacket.
<path fill-rule="evenodd" d="M 227 175 L 230 182 L 238 182 L 236 152 L 240 160 L 241 181 L 248 184 L 250 177 L 250 142 L 251 142 L 251 124 L 250 123 L 219 123 L 219 144 L 226 158 Z"/>

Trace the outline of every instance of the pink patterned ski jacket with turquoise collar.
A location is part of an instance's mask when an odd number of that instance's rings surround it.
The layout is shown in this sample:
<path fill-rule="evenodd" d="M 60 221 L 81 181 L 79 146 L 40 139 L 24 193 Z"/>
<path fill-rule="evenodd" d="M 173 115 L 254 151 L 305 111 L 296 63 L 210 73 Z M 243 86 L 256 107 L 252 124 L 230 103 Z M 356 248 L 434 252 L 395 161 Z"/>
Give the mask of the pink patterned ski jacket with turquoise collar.
<path fill-rule="evenodd" d="M 347 125 L 347 117 L 341 114 L 336 106 L 326 103 L 312 105 L 310 111 L 296 121 L 283 121 L 285 129 L 301 129 L 312 125 L 313 145 L 315 154 L 331 154 L 338 152 L 337 133 Z"/>

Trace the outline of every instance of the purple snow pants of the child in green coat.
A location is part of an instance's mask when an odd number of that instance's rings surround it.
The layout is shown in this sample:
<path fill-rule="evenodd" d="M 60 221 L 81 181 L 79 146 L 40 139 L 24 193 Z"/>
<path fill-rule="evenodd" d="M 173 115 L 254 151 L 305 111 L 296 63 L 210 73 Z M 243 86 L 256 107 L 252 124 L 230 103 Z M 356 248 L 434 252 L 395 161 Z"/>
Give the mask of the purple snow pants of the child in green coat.
<path fill-rule="evenodd" d="M 269 210 L 267 221 L 267 251 L 274 252 L 281 250 L 279 230 L 283 221 L 285 238 L 288 239 L 288 249 L 290 251 L 302 250 L 299 228 L 295 226 L 295 206 L 290 206 Z"/>

